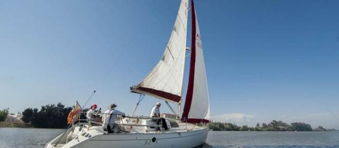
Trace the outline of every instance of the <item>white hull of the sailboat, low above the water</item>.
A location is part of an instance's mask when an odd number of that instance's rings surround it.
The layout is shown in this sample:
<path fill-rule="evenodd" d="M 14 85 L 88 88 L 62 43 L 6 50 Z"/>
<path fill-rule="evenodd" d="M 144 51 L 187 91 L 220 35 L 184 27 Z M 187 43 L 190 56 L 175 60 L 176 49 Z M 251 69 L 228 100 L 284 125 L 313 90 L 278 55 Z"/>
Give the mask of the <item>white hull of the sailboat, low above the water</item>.
<path fill-rule="evenodd" d="M 91 130 L 89 130 L 91 131 Z M 95 147 L 95 148 L 129 148 L 129 147 L 182 147 L 190 148 L 205 143 L 209 128 L 191 131 L 159 132 L 159 133 L 120 133 L 97 134 L 90 138 L 79 135 L 67 144 L 58 144 L 56 147 Z M 45 147 L 54 147 L 57 138 L 46 144 Z"/>

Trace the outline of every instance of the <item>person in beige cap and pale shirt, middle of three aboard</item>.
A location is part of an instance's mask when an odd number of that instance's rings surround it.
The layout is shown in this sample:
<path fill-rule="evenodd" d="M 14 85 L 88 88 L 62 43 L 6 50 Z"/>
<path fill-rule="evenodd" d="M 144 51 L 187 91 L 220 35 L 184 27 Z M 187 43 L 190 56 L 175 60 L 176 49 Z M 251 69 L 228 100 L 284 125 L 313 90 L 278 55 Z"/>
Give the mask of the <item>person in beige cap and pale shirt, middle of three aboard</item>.
<path fill-rule="evenodd" d="M 116 123 L 117 115 L 125 116 L 125 113 L 116 110 L 116 104 L 110 104 L 108 110 L 104 112 L 102 116 L 103 126 L 107 129 L 108 132 L 117 131 L 118 125 Z"/>

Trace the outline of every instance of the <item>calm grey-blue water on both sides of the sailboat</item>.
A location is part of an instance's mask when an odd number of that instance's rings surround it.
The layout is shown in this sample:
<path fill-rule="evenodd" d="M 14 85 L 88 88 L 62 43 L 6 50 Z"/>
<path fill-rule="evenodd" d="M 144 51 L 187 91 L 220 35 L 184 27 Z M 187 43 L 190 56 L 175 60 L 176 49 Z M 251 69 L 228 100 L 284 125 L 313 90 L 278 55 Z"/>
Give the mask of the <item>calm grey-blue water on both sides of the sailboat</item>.
<path fill-rule="evenodd" d="M 0 128 L 0 147 L 44 147 L 64 130 Z M 338 147 L 339 132 L 210 132 L 203 148 Z"/>

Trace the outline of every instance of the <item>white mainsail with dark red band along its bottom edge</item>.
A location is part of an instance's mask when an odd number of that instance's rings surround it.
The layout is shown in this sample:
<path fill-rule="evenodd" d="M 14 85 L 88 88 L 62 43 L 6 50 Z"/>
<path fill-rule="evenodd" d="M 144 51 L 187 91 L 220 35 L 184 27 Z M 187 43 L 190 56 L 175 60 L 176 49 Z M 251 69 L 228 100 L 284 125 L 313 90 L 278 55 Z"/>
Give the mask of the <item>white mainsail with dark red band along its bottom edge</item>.
<path fill-rule="evenodd" d="M 131 91 L 178 103 L 182 95 L 187 32 L 187 0 L 182 0 L 165 51 L 152 71 Z"/>

